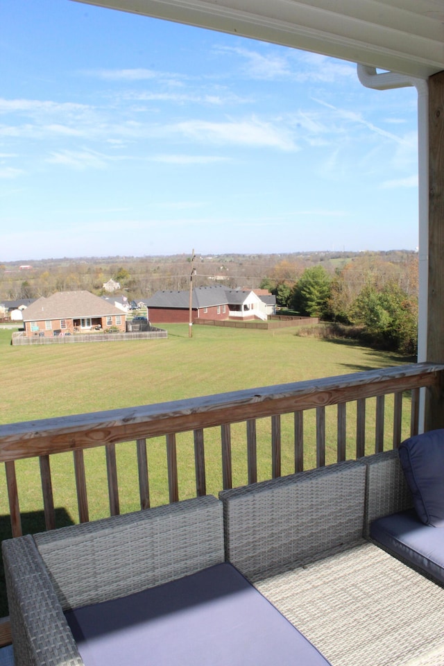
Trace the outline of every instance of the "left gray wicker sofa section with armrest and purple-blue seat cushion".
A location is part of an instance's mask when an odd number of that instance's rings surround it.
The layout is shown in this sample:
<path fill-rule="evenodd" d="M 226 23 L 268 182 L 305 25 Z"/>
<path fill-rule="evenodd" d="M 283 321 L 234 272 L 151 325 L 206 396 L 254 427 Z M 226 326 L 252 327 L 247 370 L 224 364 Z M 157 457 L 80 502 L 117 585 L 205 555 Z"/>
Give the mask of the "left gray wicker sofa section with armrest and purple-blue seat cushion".
<path fill-rule="evenodd" d="M 16 666 L 329 666 L 223 537 L 207 496 L 3 542 Z"/>

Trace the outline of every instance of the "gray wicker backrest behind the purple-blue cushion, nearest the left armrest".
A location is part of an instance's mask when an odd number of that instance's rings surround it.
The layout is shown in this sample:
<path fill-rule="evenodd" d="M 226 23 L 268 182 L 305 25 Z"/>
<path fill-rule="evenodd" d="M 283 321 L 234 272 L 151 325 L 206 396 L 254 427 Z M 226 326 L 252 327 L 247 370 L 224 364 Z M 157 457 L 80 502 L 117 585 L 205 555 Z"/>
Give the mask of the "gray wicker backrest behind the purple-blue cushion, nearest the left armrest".
<path fill-rule="evenodd" d="M 116 599 L 224 561 L 210 495 L 35 535 L 64 610 Z"/>

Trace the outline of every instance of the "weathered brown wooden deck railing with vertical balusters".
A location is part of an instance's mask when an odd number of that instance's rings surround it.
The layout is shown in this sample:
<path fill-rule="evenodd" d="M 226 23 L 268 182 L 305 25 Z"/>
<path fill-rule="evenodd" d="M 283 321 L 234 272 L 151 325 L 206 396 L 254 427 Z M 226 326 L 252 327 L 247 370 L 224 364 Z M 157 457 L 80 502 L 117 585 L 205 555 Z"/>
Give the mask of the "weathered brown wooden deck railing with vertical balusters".
<path fill-rule="evenodd" d="M 244 452 L 247 475 L 245 483 L 251 484 L 258 479 L 258 434 L 259 419 L 268 419 L 269 447 L 267 466 L 271 477 L 282 474 L 282 445 L 288 448 L 291 438 L 293 463 L 286 473 L 298 472 L 307 467 L 307 443 L 305 443 L 305 413 L 314 410 L 314 442 L 308 447 L 316 450 L 309 466 L 323 466 L 326 463 L 326 446 L 330 451 L 328 463 L 344 460 L 345 457 L 361 457 L 371 452 L 382 451 L 389 446 L 397 446 L 402 436 L 418 432 L 419 391 L 422 387 L 437 386 L 443 365 L 416 364 L 399 366 L 383 370 L 371 370 L 327 377 L 307 382 L 266 386 L 264 388 L 209 395 L 203 398 L 191 398 L 176 402 L 150 404 L 143 407 L 117 409 L 96 413 L 79 414 L 62 418 L 38 421 L 17 422 L 0 426 L 0 462 L 5 463 L 6 484 L 12 536 L 22 534 L 22 522 L 17 491 L 16 461 L 26 458 L 38 458 L 42 484 L 43 508 L 46 529 L 56 527 L 53 478 L 51 477 L 50 456 L 63 452 L 74 454 L 74 475 L 80 522 L 89 520 L 89 495 L 87 475 L 85 474 L 84 450 L 92 447 L 105 447 L 105 459 L 108 478 L 108 497 L 110 514 L 120 512 L 119 470 L 117 466 L 116 445 L 123 442 L 135 442 L 137 450 L 139 503 L 142 509 L 150 506 L 150 474 L 148 470 L 147 440 L 162 436 L 166 456 L 166 477 L 169 502 L 180 499 L 178 481 L 178 459 L 176 437 L 179 433 L 190 432 L 193 437 L 193 461 L 196 495 L 207 492 L 206 477 L 206 433 L 207 429 L 219 429 L 219 448 L 221 483 L 220 488 L 233 485 L 232 461 L 232 425 L 245 422 Z M 406 393 L 406 392 L 409 393 Z M 387 396 L 392 394 L 391 415 L 393 421 L 387 425 Z M 373 401 L 373 420 L 371 431 L 368 426 L 368 400 Z M 350 417 L 348 411 L 353 408 L 352 434 L 350 435 Z M 335 424 L 326 418 L 326 408 L 336 405 Z M 409 432 L 402 432 L 402 412 L 404 422 L 406 405 L 409 411 Z M 284 415 L 291 415 L 292 426 L 288 422 L 282 427 Z M 331 413 L 329 414 L 331 420 Z M 392 416 L 391 416 L 392 420 Z M 405 430 L 405 428 L 404 428 Z M 327 435 L 328 431 L 328 435 Z M 334 431 L 334 435 L 332 432 Z M 390 431 L 390 432 L 387 432 Z M 214 438 L 214 432 L 212 433 Z M 263 438 L 263 433 L 261 437 Z M 266 435 L 268 437 L 268 435 Z M 350 437 L 353 442 L 350 446 Z M 239 439 L 239 434 L 237 434 Z M 334 439 L 334 442 L 332 442 Z M 332 447 L 334 454 L 332 459 Z M 212 455 L 214 455 L 214 446 Z M 239 450 L 239 444 L 237 444 Z M 261 447 L 263 455 L 264 447 Z M 313 452 L 314 453 L 314 452 Z M 148 473 L 149 471 L 149 473 Z M 262 477 L 263 473 L 261 472 Z M 94 486 L 94 479 L 93 484 Z M 239 485 L 239 484 L 237 484 Z M 168 501 L 168 500 L 167 500 Z"/>

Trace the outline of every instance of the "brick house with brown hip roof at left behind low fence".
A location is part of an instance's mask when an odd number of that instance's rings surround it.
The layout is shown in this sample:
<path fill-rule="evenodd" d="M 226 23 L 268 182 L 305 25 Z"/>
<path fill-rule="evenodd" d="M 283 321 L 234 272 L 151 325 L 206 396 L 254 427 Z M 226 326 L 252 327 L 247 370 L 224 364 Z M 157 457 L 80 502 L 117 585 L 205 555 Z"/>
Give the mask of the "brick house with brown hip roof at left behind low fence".
<path fill-rule="evenodd" d="M 126 314 L 89 291 L 59 291 L 38 298 L 23 313 L 26 336 L 65 335 L 110 326 L 126 329 Z"/>

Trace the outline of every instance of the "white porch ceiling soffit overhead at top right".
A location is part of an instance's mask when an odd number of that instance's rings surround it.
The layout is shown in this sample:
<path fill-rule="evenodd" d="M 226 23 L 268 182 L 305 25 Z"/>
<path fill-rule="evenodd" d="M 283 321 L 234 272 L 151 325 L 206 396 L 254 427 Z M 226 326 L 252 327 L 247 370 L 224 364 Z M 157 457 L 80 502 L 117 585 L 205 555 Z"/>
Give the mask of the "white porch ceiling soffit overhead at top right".
<path fill-rule="evenodd" d="M 444 0 L 76 0 L 427 77 L 444 70 Z"/>

